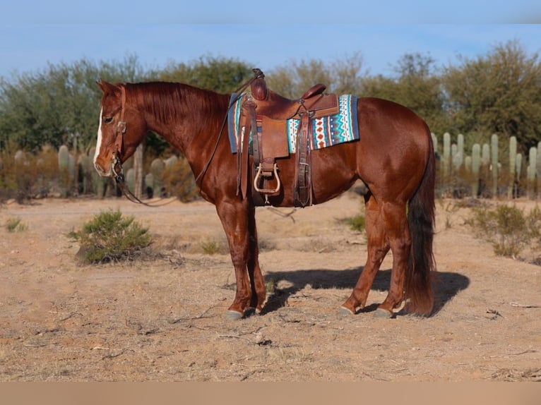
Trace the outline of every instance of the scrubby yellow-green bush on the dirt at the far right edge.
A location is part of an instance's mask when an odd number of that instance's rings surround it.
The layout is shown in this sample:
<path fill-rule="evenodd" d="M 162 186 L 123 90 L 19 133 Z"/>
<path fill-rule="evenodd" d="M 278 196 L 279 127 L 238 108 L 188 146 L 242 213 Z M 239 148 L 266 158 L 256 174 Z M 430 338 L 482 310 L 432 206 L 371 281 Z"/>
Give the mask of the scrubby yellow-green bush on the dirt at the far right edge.
<path fill-rule="evenodd" d="M 475 209 L 470 220 L 477 237 L 492 243 L 494 253 L 515 258 L 525 246 L 540 243 L 541 210 L 525 215 L 515 206 L 499 205 L 494 210 Z"/>

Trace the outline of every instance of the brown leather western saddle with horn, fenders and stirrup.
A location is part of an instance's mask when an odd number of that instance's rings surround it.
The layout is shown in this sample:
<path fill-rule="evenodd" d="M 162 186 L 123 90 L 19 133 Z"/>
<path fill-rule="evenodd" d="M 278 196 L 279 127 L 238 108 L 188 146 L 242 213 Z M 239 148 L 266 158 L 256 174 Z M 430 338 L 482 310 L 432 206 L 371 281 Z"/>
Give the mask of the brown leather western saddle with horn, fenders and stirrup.
<path fill-rule="evenodd" d="M 269 196 L 280 193 L 282 183 L 276 160 L 290 155 L 287 121 L 297 119 L 296 173 L 295 184 L 292 185 L 295 206 L 311 205 L 311 123 L 316 118 L 338 114 L 338 96 L 324 94 L 326 86 L 319 83 L 310 87 L 299 99 L 287 99 L 268 90 L 261 70 L 254 69 L 254 73 L 256 76 L 251 81 L 251 91 L 242 103 L 241 126 L 244 126 L 244 133 L 249 134 L 251 131 L 251 143 L 246 139 L 240 143 L 239 189 L 246 195 L 247 156 L 251 153 L 254 157 L 254 167 L 251 168 L 254 203 L 266 205 Z"/>

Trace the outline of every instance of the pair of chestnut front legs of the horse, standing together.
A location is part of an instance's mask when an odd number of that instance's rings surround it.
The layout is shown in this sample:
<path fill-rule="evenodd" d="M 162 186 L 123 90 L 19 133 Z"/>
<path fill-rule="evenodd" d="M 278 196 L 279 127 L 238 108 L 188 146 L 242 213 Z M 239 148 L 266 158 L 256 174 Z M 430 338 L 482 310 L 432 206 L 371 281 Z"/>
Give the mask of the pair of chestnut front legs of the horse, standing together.
<path fill-rule="evenodd" d="M 237 281 L 237 291 L 227 310 L 227 318 L 236 320 L 242 318 L 250 307 L 254 307 L 257 313 L 261 312 L 266 296 L 258 261 L 255 208 L 246 200 L 232 200 L 216 204 L 216 210 L 227 236 Z"/>

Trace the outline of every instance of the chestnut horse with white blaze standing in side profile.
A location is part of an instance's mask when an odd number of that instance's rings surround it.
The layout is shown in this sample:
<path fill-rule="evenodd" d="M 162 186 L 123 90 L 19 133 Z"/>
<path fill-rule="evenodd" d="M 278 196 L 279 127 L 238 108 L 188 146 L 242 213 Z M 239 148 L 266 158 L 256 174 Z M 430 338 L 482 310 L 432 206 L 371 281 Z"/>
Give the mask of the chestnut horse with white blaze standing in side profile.
<path fill-rule="evenodd" d="M 266 287 L 258 262 L 255 205 L 237 193 L 237 157 L 223 128 L 231 95 L 182 83 L 119 83 L 104 80 L 94 164 L 101 176 L 116 176 L 148 131 L 157 133 L 186 157 L 202 197 L 213 203 L 229 243 L 237 282 L 227 318 L 246 310 L 260 313 Z M 361 179 L 367 231 L 367 262 L 340 312 L 357 313 L 367 302 L 388 250 L 393 254 L 391 284 L 376 314 L 393 317 L 405 309 L 429 315 L 434 306 L 435 270 L 434 148 L 426 123 L 410 109 L 384 99 L 359 97 L 360 139 L 311 152 L 312 203 L 321 204 Z M 225 132 L 225 134 L 222 134 Z M 268 201 L 294 205 L 295 156 L 280 159 L 285 185 Z M 200 176 L 202 174 L 202 176 Z"/>

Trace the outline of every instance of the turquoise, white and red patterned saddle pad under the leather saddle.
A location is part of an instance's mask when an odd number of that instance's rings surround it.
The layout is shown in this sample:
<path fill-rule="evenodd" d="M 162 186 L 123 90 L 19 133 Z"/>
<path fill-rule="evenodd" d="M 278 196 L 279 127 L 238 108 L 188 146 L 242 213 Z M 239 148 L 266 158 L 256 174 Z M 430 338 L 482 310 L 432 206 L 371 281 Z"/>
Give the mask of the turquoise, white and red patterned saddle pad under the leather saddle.
<path fill-rule="evenodd" d="M 233 94 L 231 102 L 234 103 L 227 113 L 227 129 L 230 138 L 231 152 L 237 153 L 237 133 L 242 109 L 242 95 Z M 234 101 L 236 99 L 236 101 Z M 357 123 L 357 97 L 354 95 L 340 95 L 338 97 L 339 112 L 336 115 L 312 119 L 310 145 L 312 150 L 351 142 L 359 139 L 359 126 Z M 288 119 L 287 143 L 290 153 L 295 153 L 297 133 L 300 125 L 299 119 Z M 250 134 L 251 136 L 251 134 Z"/>

